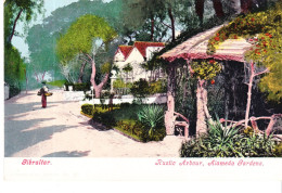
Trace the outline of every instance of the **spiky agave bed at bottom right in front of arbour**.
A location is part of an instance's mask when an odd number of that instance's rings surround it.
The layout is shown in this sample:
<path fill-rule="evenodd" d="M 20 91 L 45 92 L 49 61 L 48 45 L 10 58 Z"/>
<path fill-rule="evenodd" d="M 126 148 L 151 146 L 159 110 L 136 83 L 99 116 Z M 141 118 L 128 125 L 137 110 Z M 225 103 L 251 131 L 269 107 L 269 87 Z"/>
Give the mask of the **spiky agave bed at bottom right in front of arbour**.
<path fill-rule="evenodd" d="M 217 120 L 209 124 L 207 134 L 182 143 L 181 157 L 275 157 L 278 142 L 254 131 L 241 131 Z"/>

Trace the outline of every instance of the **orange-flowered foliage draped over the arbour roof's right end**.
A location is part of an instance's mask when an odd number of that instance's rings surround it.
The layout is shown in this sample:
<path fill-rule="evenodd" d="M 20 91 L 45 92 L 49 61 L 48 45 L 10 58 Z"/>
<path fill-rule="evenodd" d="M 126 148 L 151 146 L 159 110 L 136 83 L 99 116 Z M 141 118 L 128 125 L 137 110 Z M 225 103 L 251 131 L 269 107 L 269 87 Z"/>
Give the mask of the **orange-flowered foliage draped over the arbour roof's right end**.
<path fill-rule="evenodd" d="M 226 39 L 245 38 L 253 44 L 245 53 L 247 61 L 268 67 L 270 73 L 261 78 L 259 87 L 268 92 L 268 99 L 282 99 L 282 2 L 273 8 L 247 15 L 240 15 L 228 26 L 222 27 L 209 39 L 208 53 L 216 52 L 217 46 Z"/>

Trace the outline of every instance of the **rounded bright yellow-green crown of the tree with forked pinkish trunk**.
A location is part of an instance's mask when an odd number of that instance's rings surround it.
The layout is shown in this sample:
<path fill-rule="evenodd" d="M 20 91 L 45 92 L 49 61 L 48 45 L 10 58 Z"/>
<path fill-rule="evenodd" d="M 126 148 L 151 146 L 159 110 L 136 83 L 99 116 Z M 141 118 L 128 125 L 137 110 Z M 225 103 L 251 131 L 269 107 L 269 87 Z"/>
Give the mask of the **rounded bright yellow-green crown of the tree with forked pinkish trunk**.
<path fill-rule="evenodd" d="M 74 22 L 67 33 L 57 40 L 56 53 L 60 61 L 70 61 L 78 53 L 91 53 L 94 38 L 101 38 L 107 44 L 116 36 L 104 18 L 87 14 Z"/>

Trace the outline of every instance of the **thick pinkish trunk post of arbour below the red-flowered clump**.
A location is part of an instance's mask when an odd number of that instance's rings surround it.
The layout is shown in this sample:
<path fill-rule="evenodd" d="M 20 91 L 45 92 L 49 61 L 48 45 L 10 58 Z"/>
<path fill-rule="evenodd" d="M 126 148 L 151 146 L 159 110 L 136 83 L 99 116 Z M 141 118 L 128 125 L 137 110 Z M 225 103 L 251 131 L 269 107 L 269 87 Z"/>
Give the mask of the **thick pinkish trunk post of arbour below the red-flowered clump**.
<path fill-rule="evenodd" d="M 207 90 L 205 80 L 198 80 L 196 89 L 196 134 L 207 132 L 206 118 L 210 119 L 210 116 L 206 105 Z"/>

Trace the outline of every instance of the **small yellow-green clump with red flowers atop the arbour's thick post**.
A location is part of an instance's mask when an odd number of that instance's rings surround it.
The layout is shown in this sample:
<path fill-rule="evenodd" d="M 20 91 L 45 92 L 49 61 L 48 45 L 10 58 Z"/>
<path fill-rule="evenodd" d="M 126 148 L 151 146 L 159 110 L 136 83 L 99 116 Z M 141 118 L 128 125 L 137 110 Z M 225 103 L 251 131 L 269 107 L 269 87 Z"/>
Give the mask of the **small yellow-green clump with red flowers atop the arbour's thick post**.
<path fill-rule="evenodd" d="M 193 62 L 191 67 L 194 72 L 193 76 L 202 80 L 213 79 L 221 70 L 220 63 L 215 60 Z"/>

